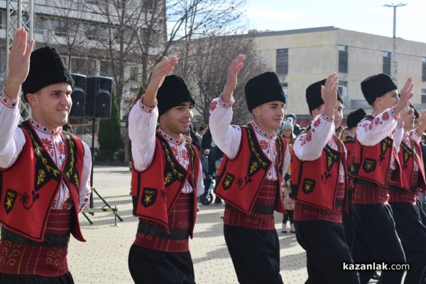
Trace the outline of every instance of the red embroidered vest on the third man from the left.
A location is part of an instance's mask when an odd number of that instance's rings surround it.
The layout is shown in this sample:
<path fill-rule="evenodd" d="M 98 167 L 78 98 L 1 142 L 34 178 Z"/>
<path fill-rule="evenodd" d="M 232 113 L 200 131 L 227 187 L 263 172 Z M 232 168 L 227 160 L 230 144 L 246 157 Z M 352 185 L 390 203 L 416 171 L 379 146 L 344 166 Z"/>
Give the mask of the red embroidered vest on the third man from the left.
<path fill-rule="evenodd" d="M 280 185 L 283 178 L 283 162 L 287 143 L 282 137 L 277 136 L 275 145 L 278 152 L 275 170 L 278 175 L 278 185 Z M 219 175 L 217 175 L 215 194 L 227 204 L 250 214 L 261 184 L 271 166 L 271 160 L 266 157 L 259 146 L 256 132 L 250 125 L 241 126 L 239 152 L 232 160 L 224 155 Z M 278 195 L 280 194 L 280 190 L 278 190 Z M 278 201 L 282 200 L 280 196 L 277 198 Z M 281 202 L 275 202 L 275 204 L 276 211 L 285 212 Z"/>

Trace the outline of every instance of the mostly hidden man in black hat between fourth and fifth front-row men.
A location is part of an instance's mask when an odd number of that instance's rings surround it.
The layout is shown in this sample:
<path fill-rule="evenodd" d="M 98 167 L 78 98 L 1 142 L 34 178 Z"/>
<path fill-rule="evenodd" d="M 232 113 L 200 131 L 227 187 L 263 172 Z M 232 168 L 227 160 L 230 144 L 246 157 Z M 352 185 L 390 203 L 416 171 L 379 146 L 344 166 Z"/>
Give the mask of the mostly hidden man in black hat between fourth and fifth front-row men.
<path fill-rule="evenodd" d="M 348 212 L 342 212 L 342 222 L 344 226 L 344 236 L 346 237 L 346 243 L 349 246 L 349 250 L 352 249 L 352 241 L 354 240 L 354 222 L 352 222 L 352 191 L 354 190 L 354 178 L 349 175 L 352 165 L 352 158 L 354 158 L 354 144 L 356 136 L 356 126 L 359 124 L 359 121 L 364 119 L 366 116 L 366 111 L 364 109 L 356 109 L 356 111 L 351 111 L 346 118 L 346 126 L 348 129 L 348 135 L 343 137 L 342 143 L 347 151 L 346 156 L 346 168 L 348 177 L 346 182 L 347 185 L 347 199 L 348 199 Z"/>

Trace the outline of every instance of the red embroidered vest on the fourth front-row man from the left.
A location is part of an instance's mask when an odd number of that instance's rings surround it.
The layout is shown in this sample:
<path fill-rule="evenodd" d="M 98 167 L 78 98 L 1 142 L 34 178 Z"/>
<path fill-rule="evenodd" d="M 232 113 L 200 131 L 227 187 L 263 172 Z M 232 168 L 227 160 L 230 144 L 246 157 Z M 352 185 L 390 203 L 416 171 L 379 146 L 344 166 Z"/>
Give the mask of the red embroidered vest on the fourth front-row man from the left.
<path fill-rule="evenodd" d="M 293 151 L 289 194 L 293 200 L 330 211 L 337 211 L 343 206 L 344 198 L 337 190 L 337 183 L 340 163 L 344 165 L 344 175 L 347 176 L 344 146 L 338 138 L 333 136 L 332 139 L 339 151 L 327 144 L 317 160 L 299 160 Z"/>

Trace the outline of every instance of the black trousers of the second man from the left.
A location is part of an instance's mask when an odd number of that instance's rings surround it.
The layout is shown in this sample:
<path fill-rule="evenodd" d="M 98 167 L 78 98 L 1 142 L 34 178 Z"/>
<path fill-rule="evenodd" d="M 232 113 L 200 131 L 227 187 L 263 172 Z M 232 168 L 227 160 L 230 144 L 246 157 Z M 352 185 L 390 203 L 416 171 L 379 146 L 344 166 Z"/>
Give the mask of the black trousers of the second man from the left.
<path fill-rule="evenodd" d="M 194 284 L 195 274 L 189 251 L 171 253 L 133 244 L 129 271 L 136 284 Z"/>

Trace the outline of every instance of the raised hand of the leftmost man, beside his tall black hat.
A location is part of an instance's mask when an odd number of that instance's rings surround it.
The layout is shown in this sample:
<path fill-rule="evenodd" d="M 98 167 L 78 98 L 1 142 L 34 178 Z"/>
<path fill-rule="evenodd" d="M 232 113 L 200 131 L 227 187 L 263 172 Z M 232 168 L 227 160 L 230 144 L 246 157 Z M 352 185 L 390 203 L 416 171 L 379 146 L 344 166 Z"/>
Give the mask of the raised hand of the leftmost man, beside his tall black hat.
<path fill-rule="evenodd" d="M 27 32 L 25 28 L 18 28 L 9 52 L 9 72 L 4 86 L 4 92 L 10 99 L 18 99 L 21 84 L 28 76 L 33 46 L 33 39 L 27 45 Z"/>

